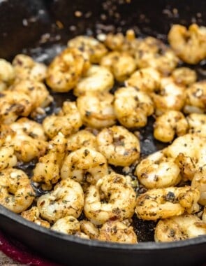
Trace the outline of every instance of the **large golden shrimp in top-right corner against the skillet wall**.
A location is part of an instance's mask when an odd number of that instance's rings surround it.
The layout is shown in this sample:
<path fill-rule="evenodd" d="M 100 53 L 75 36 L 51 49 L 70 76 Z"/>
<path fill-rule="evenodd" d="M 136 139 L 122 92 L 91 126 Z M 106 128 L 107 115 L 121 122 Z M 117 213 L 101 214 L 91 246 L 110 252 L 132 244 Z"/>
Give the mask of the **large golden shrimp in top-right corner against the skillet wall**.
<path fill-rule="evenodd" d="M 188 64 L 198 64 L 206 58 L 206 27 L 195 23 L 188 29 L 182 25 L 172 25 L 168 41 L 176 55 Z"/>

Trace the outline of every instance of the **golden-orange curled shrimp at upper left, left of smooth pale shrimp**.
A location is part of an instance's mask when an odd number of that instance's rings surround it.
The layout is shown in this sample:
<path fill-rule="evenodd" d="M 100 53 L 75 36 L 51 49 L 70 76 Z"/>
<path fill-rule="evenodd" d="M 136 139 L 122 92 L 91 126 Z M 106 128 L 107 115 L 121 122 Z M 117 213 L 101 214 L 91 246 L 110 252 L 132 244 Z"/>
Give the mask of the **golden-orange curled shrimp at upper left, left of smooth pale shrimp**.
<path fill-rule="evenodd" d="M 84 58 L 77 48 L 66 48 L 54 57 L 47 68 L 46 83 L 54 92 L 68 92 L 89 68 L 89 57 Z"/>

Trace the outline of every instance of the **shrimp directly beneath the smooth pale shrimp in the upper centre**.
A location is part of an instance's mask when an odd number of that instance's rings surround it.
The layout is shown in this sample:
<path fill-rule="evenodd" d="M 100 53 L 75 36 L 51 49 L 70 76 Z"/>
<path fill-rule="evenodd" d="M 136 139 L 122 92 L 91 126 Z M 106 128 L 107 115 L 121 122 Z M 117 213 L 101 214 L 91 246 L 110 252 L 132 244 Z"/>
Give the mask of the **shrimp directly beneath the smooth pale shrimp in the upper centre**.
<path fill-rule="evenodd" d="M 114 96 L 109 92 L 86 92 L 77 99 L 82 123 L 96 129 L 115 125 Z"/>

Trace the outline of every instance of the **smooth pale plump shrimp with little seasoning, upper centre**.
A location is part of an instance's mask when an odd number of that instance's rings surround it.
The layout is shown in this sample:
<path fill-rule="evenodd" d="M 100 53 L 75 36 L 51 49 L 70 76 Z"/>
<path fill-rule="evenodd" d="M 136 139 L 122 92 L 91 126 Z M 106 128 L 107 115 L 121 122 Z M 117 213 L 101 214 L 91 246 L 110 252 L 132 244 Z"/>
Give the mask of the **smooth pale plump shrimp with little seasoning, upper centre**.
<path fill-rule="evenodd" d="M 104 66 L 92 65 L 75 86 L 73 93 L 80 96 L 85 92 L 108 92 L 114 85 L 114 77 Z"/>

